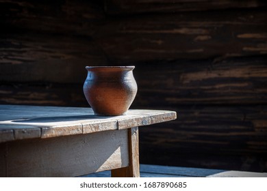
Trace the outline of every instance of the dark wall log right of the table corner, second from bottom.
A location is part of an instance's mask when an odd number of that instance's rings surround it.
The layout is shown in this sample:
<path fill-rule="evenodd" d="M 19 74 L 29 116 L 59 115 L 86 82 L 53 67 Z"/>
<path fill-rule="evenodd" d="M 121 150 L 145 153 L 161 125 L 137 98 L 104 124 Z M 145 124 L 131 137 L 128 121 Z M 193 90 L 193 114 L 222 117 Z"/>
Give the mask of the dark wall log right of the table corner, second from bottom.
<path fill-rule="evenodd" d="M 179 106 L 179 113 L 179 120 L 142 129 L 140 144 L 168 152 L 266 154 L 266 106 Z"/>

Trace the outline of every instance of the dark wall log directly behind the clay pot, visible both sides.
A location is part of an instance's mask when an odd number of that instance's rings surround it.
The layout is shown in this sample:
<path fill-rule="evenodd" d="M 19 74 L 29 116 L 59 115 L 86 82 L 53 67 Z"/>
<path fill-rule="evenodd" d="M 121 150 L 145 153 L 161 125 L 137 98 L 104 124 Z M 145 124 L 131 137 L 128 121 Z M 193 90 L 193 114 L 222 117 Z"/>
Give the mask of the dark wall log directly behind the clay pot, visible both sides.
<path fill-rule="evenodd" d="M 5 76 L 5 72 L 1 74 L 2 82 L 5 80 L 5 83 L 1 83 L 0 102 L 55 106 L 86 105 L 82 91 L 86 70 L 82 64 L 80 67 L 78 65 L 74 62 L 73 65 L 68 64 L 66 67 L 62 63 L 62 68 L 40 65 L 40 68 L 36 66 L 29 69 L 21 66 L 21 70 L 15 70 L 19 65 L 12 65 L 14 67 L 12 70 L 5 66 L 10 76 Z M 39 72 L 34 69 L 38 69 Z M 138 63 L 133 74 L 138 84 L 138 93 L 132 105 L 136 108 L 173 107 L 183 104 L 267 103 L 266 57 L 235 58 L 216 63 L 209 60 Z M 35 82 L 18 83 L 20 79 L 26 82 L 34 79 Z M 38 81 L 40 79 L 52 82 L 40 83 Z M 8 80 L 15 81 L 8 82 Z M 66 82 L 73 80 L 79 83 L 55 83 L 60 80 Z"/>

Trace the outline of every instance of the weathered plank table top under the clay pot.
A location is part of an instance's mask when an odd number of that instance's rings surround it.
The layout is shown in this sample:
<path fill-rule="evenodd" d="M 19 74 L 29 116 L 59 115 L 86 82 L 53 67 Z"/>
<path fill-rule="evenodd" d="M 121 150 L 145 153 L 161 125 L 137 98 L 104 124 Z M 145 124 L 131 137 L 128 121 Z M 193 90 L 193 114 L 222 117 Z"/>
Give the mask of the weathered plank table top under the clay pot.
<path fill-rule="evenodd" d="M 0 143 L 122 130 L 176 119 L 174 111 L 129 110 L 127 115 L 103 117 L 92 108 L 0 105 Z"/>

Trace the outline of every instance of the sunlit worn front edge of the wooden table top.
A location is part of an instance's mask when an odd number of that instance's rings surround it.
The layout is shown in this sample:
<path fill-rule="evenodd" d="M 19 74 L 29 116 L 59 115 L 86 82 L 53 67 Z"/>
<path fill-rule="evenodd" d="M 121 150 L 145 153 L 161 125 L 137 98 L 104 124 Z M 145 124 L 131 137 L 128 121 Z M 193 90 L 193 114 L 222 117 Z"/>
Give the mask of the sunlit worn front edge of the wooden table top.
<path fill-rule="evenodd" d="M 44 106 L 49 107 L 49 106 Z M 53 108 L 62 108 L 53 106 Z M 75 107 L 68 107 L 75 108 Z M 22 128 L 4 129 L 5 123 L 0 121 L 0 143 L 23 140 L 27 138 L 51 138 L 57 136 L 71 136 L 75 134 L 89 134 L 106 130 L 123 130 L 138 126 L 149 126 L 177 119 L 175 111 L 130 109 L 131 115 L 125 115 L 122 119 L 73 123 L 64 126 L 25 126 Z M 142 114 L 138 115 L 138 112 Z M 145 113 L 145 114 L 144 114 Z M 2 121 L 3 122 L 3 121 Z M 1 129 L 2 124 L 2 129 Z"/>

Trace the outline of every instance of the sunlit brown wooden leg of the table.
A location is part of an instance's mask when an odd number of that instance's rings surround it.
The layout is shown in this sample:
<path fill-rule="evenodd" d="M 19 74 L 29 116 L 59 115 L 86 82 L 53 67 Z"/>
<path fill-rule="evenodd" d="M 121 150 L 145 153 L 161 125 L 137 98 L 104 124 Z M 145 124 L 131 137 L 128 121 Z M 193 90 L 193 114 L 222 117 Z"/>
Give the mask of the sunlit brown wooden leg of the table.
<path fill-rule="evenodd" d="M 140 177 L 138 127 L 130 128 L 129 166 L 112 170 L 112 177 Z"/>

